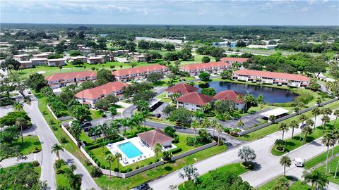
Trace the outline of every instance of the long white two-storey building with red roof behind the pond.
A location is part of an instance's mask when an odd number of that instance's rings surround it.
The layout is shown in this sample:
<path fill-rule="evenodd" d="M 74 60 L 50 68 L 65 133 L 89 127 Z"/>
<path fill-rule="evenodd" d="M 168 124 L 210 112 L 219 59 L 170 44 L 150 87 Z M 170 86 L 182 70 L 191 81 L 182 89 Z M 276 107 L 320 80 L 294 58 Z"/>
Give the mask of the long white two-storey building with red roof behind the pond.
<path fill-rule="evenodd" d="M 292 87 L 308 87 L 311 83 L 309 77 L 282 72 L 268 72 L 262 70 L 237 70 L 233 72 L 234 80 L 262 82 Z"/>

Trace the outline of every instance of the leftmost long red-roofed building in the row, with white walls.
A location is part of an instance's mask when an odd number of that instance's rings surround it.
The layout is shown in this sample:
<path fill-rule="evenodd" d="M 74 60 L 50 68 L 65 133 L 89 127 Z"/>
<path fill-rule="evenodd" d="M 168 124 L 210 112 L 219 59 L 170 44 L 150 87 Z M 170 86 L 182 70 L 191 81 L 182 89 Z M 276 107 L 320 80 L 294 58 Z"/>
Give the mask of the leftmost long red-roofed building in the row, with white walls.
<path fill-rule="evenodd" d="M 97 79 L 97 73 L 89 70 L 80 71 L 80 72 L 65 72 L 65 73 L 56 73 L 45 77 L 47 84 L 52 89 L 59 87 L 66 87 L 71 84 L 81 84 L 85 81 L 93 81 Z"/>

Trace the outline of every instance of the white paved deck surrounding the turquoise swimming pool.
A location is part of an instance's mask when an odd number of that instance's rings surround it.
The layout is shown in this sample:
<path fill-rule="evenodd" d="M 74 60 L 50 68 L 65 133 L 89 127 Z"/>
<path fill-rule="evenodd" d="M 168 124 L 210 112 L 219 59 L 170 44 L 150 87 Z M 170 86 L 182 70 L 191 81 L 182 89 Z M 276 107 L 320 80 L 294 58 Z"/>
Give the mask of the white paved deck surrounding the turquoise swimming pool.
<path fill-rule="evenodd" d="M 141 151 L 141 153 L 143 154 L 141 156 L 136 156 L 134 158 L 128 158 L 126 154 L 123 151 L 121 151 L 121 149 L 118 147 L 118 145 L 124 144 L 127 142 L 131 142 L 131 144 L 136 146 L 136 148 L 138 148 L 139 151 Z M 155 153 L 150 148 L 148 148 L 147 146 L 141 143 L 141 139 L 139 139 L 139 137 L 125 139 L 124 141 L 119 141 L 114 144 L 107 144 L 107 148 L 109 149 L 109 151 L 111 151 L 113 155 L 117 152 L 121 153 L 122 158 L 119 160 L 119 163 L 121 163 L 122 166 L 130 165 L 138 161 L 153 157 L 155 155 Z"/>

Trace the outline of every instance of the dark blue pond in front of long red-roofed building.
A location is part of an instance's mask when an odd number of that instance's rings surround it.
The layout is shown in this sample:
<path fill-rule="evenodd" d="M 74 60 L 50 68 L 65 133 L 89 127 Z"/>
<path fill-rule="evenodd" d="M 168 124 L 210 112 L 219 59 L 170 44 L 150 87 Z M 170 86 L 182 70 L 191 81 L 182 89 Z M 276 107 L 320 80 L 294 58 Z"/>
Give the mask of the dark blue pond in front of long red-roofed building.
<path fill-rule="evenodd" d="M 263 94 L 266 103 L 285 103 L 293 101 L 293 99 L 297 96 L 297 94 L 288 89 L 237 84 L 232 82 L 208 82 L 206 84 L 199 84 L 195 86 L 201 89 L 208 87 L 214 88 L 217 93 L 224 90 L 234 90 L 243 94 L 253 94 L 254 97 L 257 97 L 259 94 Z M 201 89 L 198 91 L 200 92 Z"/>

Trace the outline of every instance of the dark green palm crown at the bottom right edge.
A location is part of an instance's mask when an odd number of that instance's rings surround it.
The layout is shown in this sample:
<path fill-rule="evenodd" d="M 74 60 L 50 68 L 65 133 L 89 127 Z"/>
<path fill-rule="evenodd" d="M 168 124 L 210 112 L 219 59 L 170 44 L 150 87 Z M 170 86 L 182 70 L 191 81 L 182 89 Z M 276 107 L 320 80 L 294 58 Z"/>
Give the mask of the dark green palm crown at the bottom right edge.
<path fill-rule="evenodd" d="M 302 177 L 304 178 L 303 184 L 311 183 L 311 189 L 323 189 L 326 184 L 328 184 L 328 179 L 326 175 L 323 175 L 319 170 L 313 170 L 312 172 L 304 171 Z"/>

